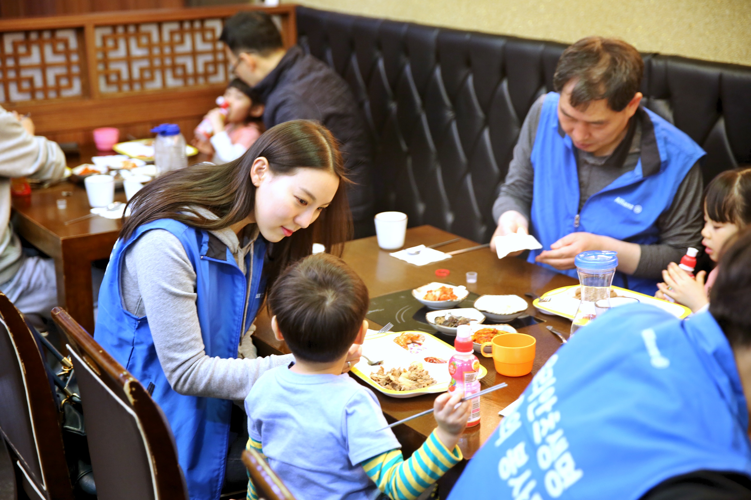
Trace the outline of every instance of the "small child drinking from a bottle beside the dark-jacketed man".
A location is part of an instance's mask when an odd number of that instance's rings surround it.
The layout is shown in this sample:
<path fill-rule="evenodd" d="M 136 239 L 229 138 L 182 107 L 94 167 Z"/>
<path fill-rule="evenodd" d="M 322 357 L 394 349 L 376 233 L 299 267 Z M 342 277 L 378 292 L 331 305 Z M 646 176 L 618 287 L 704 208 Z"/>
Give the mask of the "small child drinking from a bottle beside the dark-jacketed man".
<path fill-rule="evenodd" d="M 206 155 L 212 155 L 212 161 L 216 164 L 240 158 L 264 132 L 261 121 L 264 105 L 243 80 L 232 80 L 224 98 L 229 104 L 227 116 L 218 107 L 206 114 L 214 130 L 210 140 L 206 140 L 202 134 L 195 134 L 193 139 L 193 146 Z"/>

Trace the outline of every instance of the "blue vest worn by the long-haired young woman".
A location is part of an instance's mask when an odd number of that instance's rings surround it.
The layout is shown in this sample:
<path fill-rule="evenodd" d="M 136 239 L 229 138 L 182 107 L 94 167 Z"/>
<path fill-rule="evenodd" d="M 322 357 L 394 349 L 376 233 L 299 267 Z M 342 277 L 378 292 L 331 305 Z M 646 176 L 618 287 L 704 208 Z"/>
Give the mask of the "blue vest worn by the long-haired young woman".
<path fill-rule="evenodd" d="M 258 236 L 253 255 L 246 256 L 246 269 L 250 269 L 250 259 L 253 260 L 248 291 L 246 276 L 237 267 L 229 249 L 216 236 L 171 219 L 152 221 L 138 227 L 126 242 L 116 242 L 99 291 L 94 339 L 143 387 L 153 384 L 152 398 L 172 427 L 190 498 L 218 500 L 225 477 L 232 402 L 176 393 L 156 356 L 149 319 L 132 315 L 122 305 L 119 284 L 123 256 L 140 235 L 152 229 L 173 233 L 193 265 L 198 321 L 204 348 L 210 357 L 237 357 L 240 336 L 255 319 L 264 291 L 261 270 L 267 244 L 262 236 Z M 244 324 L 243 313 L 246 315 Z M 169 312 L 164 311 L 164 314 Z"/>

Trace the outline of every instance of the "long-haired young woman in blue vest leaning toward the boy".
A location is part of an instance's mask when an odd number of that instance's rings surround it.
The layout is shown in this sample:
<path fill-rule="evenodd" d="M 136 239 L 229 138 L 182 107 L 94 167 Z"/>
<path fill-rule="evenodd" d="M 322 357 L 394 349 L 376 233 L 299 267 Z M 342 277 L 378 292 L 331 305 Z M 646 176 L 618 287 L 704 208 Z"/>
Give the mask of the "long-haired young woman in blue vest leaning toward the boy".
<path fill-rule="evenodd" d="M 193 500 L 245 486 L 244 413 L 232 401 L 294 360 L 256 356 L 255 315 L 266 288 L 314 240 L 341 255 L 351 234 L 347 183 L 330 132 L 295 120 L 235 161 L 167 173 L 129 202 L 94 338 L 161 406 Z"/>

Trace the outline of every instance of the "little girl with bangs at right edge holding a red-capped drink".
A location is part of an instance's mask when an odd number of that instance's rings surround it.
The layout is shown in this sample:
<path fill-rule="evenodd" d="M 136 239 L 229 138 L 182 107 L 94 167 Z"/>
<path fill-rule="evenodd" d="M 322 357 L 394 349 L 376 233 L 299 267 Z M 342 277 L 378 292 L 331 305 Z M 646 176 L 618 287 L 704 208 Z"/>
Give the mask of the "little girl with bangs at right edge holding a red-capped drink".
<path fill-rule="evenodd" d="M 720 173 L 707 185 L 704 191 L 704 229 L 701 230 L 701 244 L 712 261 L 719 261 L 722 247 L 739 230 L 751 224 L 751 167 L 737 168 Z M 709 291 L 717 275 L 715 267 L 704 283 L 704 271 L 691 279 L 686 271 L 674 262 L 662 271 L 664 283 L 658 283 L 655 297 L 665 295 L 683 304 L 693 312 L 709 303 Z"/>

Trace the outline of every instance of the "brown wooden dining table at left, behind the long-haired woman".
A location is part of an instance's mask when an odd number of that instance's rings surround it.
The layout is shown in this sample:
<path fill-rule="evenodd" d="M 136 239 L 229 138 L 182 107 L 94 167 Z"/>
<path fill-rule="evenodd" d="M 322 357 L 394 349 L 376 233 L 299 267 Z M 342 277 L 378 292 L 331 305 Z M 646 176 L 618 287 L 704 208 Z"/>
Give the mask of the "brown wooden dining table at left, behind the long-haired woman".
<path fill-rule="evenodd" d="M 116 154 L 82 146 L 67 156 L 68 167 L 90 163 L 95 155 Z M 189 163 L 205 159 L 197 155 L 189 158 Z M 57 200 L 65 200 L 65 208 L 58 208 Z M 125 202 L 122 188 L 115 191 L 115 201 Z M 95 215 L 65 225 L 65 221 L 87 215 L 91 209 L 83 185 L 68 180 L 33 188 L 29 196 L 14 197 L 12 206 L 17 233 L 55 261 L 58 304 L 93 333 L 92 262 L 110 257 L 122 225 L 120 220 Z"/>

